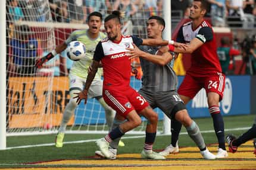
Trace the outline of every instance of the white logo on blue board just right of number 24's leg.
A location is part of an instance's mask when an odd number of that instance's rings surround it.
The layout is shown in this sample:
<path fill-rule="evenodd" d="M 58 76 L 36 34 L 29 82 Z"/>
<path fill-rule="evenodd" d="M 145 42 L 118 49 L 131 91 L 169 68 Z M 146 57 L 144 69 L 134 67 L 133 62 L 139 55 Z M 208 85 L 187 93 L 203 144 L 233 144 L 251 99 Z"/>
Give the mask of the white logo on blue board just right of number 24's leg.
<path fill-rule="evenodd" d="M 232 83 L 229 78 L 226 78 L 223 100 L 221 101 L 221 108 L 224 114 L 229 113 L 231 105 L 232 105 Z"/>

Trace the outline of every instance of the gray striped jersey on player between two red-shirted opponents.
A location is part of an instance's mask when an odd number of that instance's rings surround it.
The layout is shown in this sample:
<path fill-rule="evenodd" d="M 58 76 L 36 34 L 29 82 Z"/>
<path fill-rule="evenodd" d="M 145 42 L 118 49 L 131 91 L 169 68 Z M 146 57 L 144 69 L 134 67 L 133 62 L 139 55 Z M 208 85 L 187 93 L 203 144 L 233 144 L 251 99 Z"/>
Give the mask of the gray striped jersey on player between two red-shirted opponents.
<path fill-rule="evenodd" d="M 158 47 L 139 46 L 139 49 L 155 54 Z M 165 66 L 157 65 L 141 57 L 140 60 L 143 71 L 142 89 L 159 92 L 177 90 L 177 76 L 172 69 L 174 59 Z"/>

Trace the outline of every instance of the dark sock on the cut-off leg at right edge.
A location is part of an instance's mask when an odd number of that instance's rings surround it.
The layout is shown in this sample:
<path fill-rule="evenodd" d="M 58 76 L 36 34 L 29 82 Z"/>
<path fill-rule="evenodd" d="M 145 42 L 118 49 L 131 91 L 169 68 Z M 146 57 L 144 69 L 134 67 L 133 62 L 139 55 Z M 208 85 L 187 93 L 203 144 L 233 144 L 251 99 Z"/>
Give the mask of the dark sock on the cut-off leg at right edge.
<path fill-rule="evenodd" d="M 246 131 L 242 134 L 242 136 L 239 136 L 238 139 L 234 140 L 232 142 L 233 146 L 240 146 L 243 143 L 247 142 L 248 140 L 254 139 L 256 137 L 256 126 L 252 126 L 251 129 Z"/>

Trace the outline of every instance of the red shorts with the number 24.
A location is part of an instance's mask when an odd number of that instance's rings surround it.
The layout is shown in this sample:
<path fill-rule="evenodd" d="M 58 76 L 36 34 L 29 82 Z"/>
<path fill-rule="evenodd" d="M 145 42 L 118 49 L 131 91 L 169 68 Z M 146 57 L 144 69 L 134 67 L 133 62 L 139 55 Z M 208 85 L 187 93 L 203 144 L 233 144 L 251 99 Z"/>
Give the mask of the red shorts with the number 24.
<path fill-rule="evenodd" d="M 220 101 L 223 98 L 225 86 L 225 75 L 217 72 L 214 75 L 196 77 L 187 74 L 183 79 L 182 84 L 178 89 L 179 95 L 185 95 L 186 97 L 193 98 L 202 88 L 205 89 L 206 93 L 216 92 L 220 95 Z"/>

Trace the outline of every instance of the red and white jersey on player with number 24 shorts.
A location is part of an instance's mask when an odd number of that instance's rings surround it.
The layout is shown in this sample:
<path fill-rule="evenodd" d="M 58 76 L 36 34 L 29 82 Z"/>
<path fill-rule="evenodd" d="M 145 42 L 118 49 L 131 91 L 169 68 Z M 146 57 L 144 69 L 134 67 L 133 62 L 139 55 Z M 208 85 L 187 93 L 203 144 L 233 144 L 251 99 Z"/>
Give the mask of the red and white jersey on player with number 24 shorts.
<path fill-rule="evenodd" d="M 216 39 L 213 29 L 207 21 L 202 21 L 195 30 L 192 29 L 192 21 L 183 24 L 176 41 L 190 43 L 195 37 L 204 44 L 191 54 L 191 68 L 188 69 L 187 73 L 195 76 L 205 76 L 222 72 L 217 56 Z"/>

